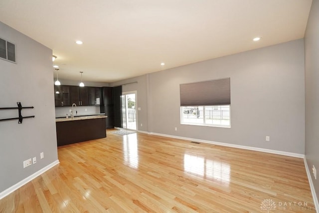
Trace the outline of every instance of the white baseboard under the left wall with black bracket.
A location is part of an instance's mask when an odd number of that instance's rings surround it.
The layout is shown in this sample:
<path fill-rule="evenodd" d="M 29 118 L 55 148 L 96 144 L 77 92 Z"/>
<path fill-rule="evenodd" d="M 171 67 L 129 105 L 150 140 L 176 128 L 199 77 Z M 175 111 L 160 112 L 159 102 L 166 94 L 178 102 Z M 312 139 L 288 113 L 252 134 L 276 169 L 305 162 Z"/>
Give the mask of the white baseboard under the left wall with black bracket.
<path fill-rule="evenodd" d="M 22 181 L 14 184 L 12 187 L 4 190 L 3 192 L 0 193 L 0 200 L 2 198 L 4 198 L 5 196 L 8 196 L 9 194 L 11 194 L 12 192 L 14 192 L 15 190 L 19 189 L 20 187 L 22 187 L 23 185 L 27 184 L 28 182 L 32 181 L 33 179 L 35 179 L 36 177 L 38 177 L 39 175 L 41 175 L 42 173 L 48 171 L 49 169 L 51 169 L 52 167 L 54 167 L 55 165 L 59 164 L 59 160 L 54 161 L 53 163 L 47 165 L 46 167 L 40 169 L 39 171 L 37 171 L 36 173 L 33 173 L 32 175 L 30 175 L 29 177 L 23 179 Z"/>

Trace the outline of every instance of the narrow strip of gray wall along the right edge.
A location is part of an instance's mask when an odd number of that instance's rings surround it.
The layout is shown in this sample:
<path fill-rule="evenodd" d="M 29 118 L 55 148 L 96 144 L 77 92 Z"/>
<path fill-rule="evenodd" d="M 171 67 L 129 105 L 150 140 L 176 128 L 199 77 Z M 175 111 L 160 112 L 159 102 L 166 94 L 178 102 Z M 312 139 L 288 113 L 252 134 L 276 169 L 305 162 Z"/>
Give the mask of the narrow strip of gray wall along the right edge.
<path fill-rule="evenodd" d="M 305 33 L 306 142 L 308 167 L 317 169 L 312 180 L 319 199 L 319 0 L 313 0 Z"/>

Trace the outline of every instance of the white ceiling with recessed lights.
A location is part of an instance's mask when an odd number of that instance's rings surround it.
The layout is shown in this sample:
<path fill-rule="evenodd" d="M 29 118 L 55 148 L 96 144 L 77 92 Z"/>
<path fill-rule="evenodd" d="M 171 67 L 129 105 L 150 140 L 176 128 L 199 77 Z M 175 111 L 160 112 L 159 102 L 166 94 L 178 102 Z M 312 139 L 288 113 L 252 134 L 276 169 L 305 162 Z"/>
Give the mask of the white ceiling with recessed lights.
<path fill-rule="evenodd" d="M 311 3 L 0 0 L 0 21 L 51 48 L 60 78 L 114 82 L 303 38 Z"/>

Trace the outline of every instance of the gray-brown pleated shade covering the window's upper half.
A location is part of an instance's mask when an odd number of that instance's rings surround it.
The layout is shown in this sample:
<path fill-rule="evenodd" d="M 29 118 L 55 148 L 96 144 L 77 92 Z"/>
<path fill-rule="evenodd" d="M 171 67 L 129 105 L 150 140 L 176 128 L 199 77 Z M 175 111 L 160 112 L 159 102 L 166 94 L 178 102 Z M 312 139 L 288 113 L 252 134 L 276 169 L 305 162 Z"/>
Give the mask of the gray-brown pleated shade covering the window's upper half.
<path fill-rule="evenodd" d="M 180 106 L 230 105 L 230 78 L 180 84 Z"/>

